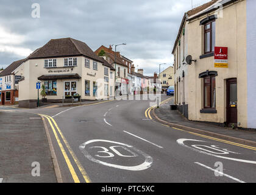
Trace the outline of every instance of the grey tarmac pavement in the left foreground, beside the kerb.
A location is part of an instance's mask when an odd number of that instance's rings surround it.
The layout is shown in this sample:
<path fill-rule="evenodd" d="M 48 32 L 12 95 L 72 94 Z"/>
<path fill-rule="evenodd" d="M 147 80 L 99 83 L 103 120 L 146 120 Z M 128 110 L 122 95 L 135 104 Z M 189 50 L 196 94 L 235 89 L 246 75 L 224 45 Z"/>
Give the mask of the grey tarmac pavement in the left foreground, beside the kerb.
<path fill-rule="evenodd" d="M 0 148 L 1 183 L 57 182 L 40 116 L 0 110 Z"/>

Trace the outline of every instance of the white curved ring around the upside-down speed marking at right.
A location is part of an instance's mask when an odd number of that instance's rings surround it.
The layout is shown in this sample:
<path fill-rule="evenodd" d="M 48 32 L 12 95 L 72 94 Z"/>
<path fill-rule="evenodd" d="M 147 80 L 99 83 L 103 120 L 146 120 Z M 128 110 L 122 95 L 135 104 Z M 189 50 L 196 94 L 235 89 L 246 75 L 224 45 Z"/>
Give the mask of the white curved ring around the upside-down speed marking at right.
<path fill-rule="evenodd" d="M 191 139 L 179 139 L 176 142 L 178 144 L 180 144 L 180 146 L 187 147 L 187 148 L 189 148 L 189 149 L 191 149 L 193 151 L 196 151 L 196 152 L 199 152 L 199 153 L 202 153 L 202 154 L 207 154 L 207 155 L 210 155 L 210 156 L 213 156 L 213 157 L 224 158 L 224 159 L 227 159 L 227 160 L 233 160 L 233 161 L 238 161 L 238 162 L 242 162 L 242 163 L 256 164 L 256 161 L 252 161 L 252 160 L 243 160 L 243 159 L 239 159 L 239 158 L 222 157 L 222 156 L 219 156 L 219 155 L 210 154 L 208 152 L 199 151 L 198 149 L 195 149 L 194 147 L 186 146 L 183 143 L 184 141 L 201 141 L 201 142 L 206 142 L 206 141 L 202 141 L 202 140 L 191 140 Z"/>

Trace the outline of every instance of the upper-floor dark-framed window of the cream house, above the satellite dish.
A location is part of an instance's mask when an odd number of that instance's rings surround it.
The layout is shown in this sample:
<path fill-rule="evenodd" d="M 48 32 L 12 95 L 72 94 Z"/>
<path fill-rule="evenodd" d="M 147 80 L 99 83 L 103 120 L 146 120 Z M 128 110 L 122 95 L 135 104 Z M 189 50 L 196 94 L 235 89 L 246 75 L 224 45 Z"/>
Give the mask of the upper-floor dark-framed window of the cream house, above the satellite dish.
<path fill-rule="evenodd" d="M 204 53 L 213 52 L 215 48 L 215 21 L 204 24 Z"/>

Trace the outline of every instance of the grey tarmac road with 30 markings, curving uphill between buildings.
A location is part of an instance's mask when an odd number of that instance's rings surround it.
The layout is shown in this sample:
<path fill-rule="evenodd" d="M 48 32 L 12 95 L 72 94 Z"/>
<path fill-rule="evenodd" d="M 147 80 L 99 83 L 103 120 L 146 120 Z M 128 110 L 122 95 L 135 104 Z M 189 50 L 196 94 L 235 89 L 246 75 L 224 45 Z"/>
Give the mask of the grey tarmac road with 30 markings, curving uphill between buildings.
<path fill-rule="evenodd" d="M 256 181 L 254 148 L 164 126 L 145 115 L 154 104 L 114 100 L 16 112 L 44 115 L 63 182 Z"/>

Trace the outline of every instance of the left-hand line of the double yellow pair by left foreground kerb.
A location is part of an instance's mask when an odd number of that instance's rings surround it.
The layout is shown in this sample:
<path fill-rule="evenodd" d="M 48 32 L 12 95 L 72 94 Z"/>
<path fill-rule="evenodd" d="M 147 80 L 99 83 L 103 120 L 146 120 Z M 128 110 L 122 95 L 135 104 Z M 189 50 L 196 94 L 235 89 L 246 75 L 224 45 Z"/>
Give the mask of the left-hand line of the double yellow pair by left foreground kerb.
<path fill-rule="evenodd" d="M 56 132 L 54 126 L 52 125 L 51 120 L 49 119 L 49 116 L 46 116 L 46 115 L 41 115 L 41 116 L 43 116 L 43 117 L 48 119 L 48 122 L 49 122 L 50 126 L 52 127 L 52 131 L 54 132 L 55 138 L 57 140 L 57 143 L 59 144 L 60 150 L 62 151 L 63 157 L 65 158 L 65 161 L 66 161 L 66 165 L 68 165 L 69 171 L 71 173 L 71 176 L 73 177 L 74 182 L 75 183 L 80 183 L 80 180 L 77 177 L 76 171 L 74 171 L 74 168 L 73 168 L 73 166 L 71 164 L 71 161 L 69 160 L 68 155 L 66 154 L 66 151 L 65 151 L 65 149 L 64 149 L 64 147 L 63 147 L 63 145 L 62 145 L 62 143 L 60 141 L 60 138 L 57 135 L 57 132 Z"/>

